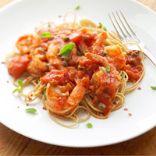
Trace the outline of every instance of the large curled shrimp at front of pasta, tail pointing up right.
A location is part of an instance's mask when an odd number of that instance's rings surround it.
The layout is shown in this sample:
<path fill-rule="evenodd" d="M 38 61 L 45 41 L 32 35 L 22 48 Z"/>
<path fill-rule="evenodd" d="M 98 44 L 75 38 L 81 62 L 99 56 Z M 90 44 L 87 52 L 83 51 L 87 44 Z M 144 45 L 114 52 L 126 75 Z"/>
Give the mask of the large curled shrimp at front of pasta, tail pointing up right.
<path fill-rule="evenodd" d="M 71 87 L 47 85 L 46 90 L 46 108 L 56 115 L 68 116 L 71 115 L 74 109 L 82 101 L 86 88 L 83 80 L 79 81 L 71 91 Z M 71 91 L 71 93 L 70 93 Z"/>

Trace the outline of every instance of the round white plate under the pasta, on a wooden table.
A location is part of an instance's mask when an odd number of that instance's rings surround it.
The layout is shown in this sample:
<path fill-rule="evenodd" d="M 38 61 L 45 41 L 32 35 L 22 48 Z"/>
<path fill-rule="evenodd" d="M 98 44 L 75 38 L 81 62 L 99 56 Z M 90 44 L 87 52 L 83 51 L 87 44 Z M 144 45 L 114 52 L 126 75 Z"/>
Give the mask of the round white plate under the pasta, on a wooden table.
<path fill-rule="evenodd" d="M 132 0 L 21 0 L 13 2 L 0 11 L 0 61 L 12 51 L 16 39 L 31 32 L 40 22 L 58 21 L 58 15 L 72 10 L 80 4 L 80 16 L 95 22 L 102 21 L 112 29 L 108 13 L 122 9 L 140 38 L 149 50 L 156 50 L 156 14 Z M 113 112 L 107 120 L 91 118 L 92 129 L 82 123 L 74 129 L 67 129 L 52 121 L 42 105 L 36 105 L 37 115 L 25 113 L 21 100 L 12 95 L 13 85 L 4 65 L 0 64 L 0 121 L 12 130 L 49 144 L 70 147 L 94 147 L 118 143 L 134 138 L 156 125 L 156 68 L 145 60 L 146 74 L 140 86 L 126 96 L 125 107 L 132 116 L 122 109 Z M 20 106 L 20 108 L 17 108 Z"/>

